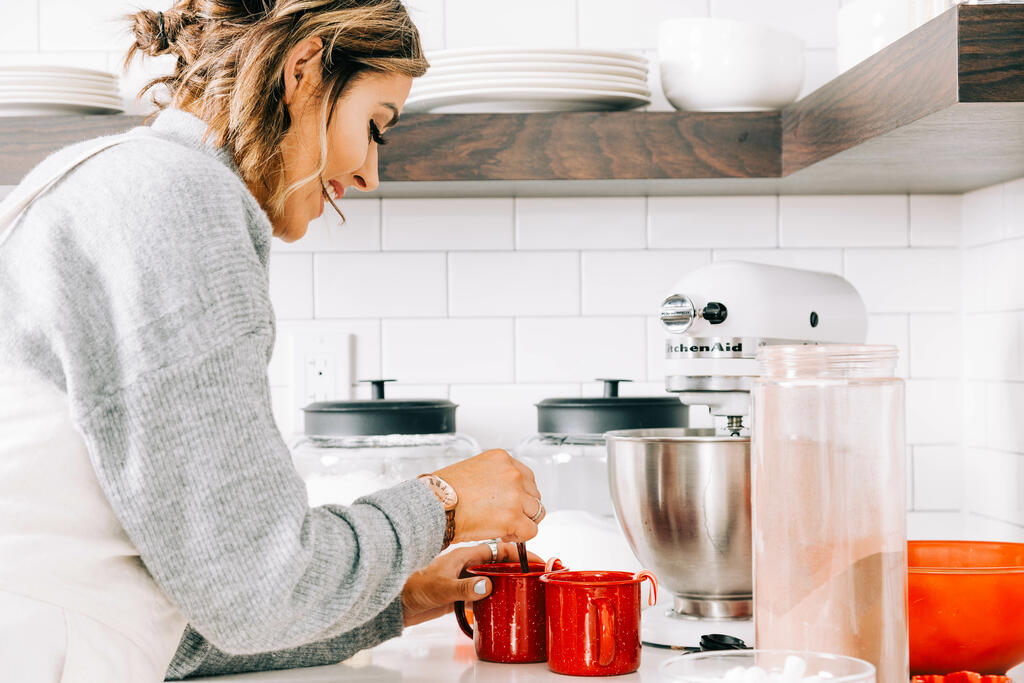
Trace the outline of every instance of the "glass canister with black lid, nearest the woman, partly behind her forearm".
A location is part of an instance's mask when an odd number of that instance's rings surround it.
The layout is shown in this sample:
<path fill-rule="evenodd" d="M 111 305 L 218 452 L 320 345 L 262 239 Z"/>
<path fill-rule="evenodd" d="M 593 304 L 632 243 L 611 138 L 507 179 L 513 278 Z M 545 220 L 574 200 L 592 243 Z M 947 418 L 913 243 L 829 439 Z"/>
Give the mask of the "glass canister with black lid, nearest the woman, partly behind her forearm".
<path fill-rule="evenodd" d="M 309 504 L 350 505 L 381 488 L 434 472 L 479 453 L 456 431 L 455 403 L 444 399 L 386 399 L 373 380 L 374 398 L 305 407 L 305 435 L 292 460 L 306 482 Z"/>

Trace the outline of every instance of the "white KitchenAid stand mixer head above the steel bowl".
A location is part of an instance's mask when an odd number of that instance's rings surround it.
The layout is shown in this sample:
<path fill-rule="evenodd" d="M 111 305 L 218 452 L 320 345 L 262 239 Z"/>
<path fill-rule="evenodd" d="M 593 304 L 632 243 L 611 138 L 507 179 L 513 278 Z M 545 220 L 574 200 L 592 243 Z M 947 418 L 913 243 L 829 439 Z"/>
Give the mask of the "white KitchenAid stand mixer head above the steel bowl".
<path fill-rule="evenodd" d="M 744 261 L 693 270 L 662 303 L 665 388 L 708 405 L 738 434 L 750 415 L 758 348 L 769 344 L 862 343 L 864 302 L 840 275 Z"/>

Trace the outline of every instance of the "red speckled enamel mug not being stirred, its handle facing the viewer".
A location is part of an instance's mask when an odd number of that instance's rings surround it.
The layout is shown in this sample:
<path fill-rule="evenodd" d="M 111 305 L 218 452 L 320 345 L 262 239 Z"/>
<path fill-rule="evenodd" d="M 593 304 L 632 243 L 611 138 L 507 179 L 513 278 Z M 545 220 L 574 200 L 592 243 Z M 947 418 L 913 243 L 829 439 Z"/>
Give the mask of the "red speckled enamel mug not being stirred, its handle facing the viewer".
<path fill-rule="evenodd" d="M 548 621 L 548 669 L 569 676 L 615 676 L 640 668 L 640 584 L 650 571 L 555 571 L 541 577 Z"/>

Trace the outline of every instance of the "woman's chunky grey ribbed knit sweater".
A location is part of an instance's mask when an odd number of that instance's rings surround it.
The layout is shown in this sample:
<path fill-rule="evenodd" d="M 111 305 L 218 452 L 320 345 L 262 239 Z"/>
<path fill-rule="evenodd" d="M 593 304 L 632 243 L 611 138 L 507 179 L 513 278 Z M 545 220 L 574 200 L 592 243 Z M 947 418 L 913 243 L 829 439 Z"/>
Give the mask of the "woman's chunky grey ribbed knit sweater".
<path fill-rule="evenodd" d="M 0 248 L 0 362 L 67 391 L 115 513 L 189 622 L 170 678 L 328 664 L 397 635 L 401 587 L 444 527 L 418 481 L 306 505 L 270 412 L 270 224 L 205 128 L 162 113 Z"/>

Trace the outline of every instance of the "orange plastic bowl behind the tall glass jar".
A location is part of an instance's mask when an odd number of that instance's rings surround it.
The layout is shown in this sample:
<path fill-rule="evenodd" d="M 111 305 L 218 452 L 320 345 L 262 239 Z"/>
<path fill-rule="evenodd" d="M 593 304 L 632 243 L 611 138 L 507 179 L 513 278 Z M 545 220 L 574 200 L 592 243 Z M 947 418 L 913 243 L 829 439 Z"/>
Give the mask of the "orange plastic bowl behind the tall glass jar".
<path fill-rule="evenodd" d="M 1024 543 L 910 541 L 910 673 L 1024 661 Z"/>

